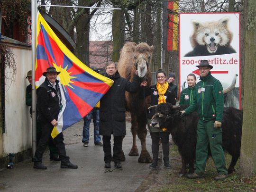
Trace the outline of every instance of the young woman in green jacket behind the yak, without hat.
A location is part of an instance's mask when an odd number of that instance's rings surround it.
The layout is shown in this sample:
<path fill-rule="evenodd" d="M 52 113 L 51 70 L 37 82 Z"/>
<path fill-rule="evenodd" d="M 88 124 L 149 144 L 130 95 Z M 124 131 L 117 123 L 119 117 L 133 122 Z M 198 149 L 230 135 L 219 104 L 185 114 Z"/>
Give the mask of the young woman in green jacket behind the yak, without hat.
<path fill-rule="evenodd" d="M 189 74 L 187 76 L 187 83 L 188 83 L 188 87 L 181 92 L 180 103 L 179 103 L 180 106 L 190 105 L 192 103 L 194 86 L 196 84 L 196 76 L 192 73 Z"/>

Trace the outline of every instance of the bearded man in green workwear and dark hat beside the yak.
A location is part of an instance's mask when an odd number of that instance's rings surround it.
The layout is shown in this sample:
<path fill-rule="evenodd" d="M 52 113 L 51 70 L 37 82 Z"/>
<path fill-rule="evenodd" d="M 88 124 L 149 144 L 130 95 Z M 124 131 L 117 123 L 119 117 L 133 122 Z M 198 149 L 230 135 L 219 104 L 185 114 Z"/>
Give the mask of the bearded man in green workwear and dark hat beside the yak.
<path fill-rule="evenodd" d="M 210 74 L 210 69 L 213 67 L 209 65 L 208 60 L 201 60 L 196 67 L 199 68 L 201 81 L 195 85 L 195 97 L 192 104 L 180 112 L 183 116 L 197 110 L 199 116 L 195 171 L 187 177 L 195 179 L 204 176 L 208 159 L 208 144 L 210 144 L 211 157 L 219 174 L 214 179 L 224 180 L 228 176 L 228 170 L 222 149 L 223 88 L 219 80 Z"/>

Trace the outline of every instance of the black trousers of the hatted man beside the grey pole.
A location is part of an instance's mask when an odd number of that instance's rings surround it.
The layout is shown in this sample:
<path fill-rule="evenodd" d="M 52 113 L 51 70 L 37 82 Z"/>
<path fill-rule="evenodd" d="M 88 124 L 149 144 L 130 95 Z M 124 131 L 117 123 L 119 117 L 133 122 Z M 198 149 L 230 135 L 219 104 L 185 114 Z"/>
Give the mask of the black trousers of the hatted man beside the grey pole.
<path fill-rule="evenodd" d="M 54 128 L 54 126 L 48 122 L 44 122 L 41 125 L 42 125 L 42 135 L 37 145 L 34 162 L 42 162 L 43 153 L 45 152 L 46 147 L 50 141 L 51 133 Z M 69 157 L 66 155 L 65 144 L 63 141 L 64 141 L 64 137 L 62 133 L 58 134 L 53 139 L 53 142 L 58 150 L 61 162 L 66 163 L 66 162 L 69 162 Z"/>

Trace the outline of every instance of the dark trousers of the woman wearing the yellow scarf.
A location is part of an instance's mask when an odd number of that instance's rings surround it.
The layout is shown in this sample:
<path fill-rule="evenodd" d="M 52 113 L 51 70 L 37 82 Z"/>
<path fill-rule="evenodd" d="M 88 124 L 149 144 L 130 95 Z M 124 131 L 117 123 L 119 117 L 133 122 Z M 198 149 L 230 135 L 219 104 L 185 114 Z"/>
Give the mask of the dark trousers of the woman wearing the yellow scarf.
<path fill-rule="evenodd" d="M 162 139 L 162 148 L 164 158 L 169 158 L 169 132 L 152 132 L 150 133 L 152 139 L 152 154 L 153 158 L 158 158 L 159 141 Z"/>

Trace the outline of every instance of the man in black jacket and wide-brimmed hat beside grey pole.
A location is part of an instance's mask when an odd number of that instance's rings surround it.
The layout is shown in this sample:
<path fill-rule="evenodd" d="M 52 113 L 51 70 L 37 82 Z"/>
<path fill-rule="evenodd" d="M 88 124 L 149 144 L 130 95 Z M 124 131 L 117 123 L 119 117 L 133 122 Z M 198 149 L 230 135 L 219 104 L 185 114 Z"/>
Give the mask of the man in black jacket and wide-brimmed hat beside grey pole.
<path fill-rule="evenodd" d="M 62 108 L 60 86 L 57 80 L 59 74 L 60 72 L 57 72 L 55 67 L 47 68 L 46 72 L 43 73 L 46 80 L 37 89 L 37 119 L 42 127 L 42 135 L 34 158 L 34 168 L 37 169 L 47 168 L 42 164 L 42 157 L 49 143 L 51 132 L 54 126 L 58 124 L 58 114 Z M 61 168 L 77 168 L 66 155 L 63 133 L 58 134 L 53 141 L 59 153 Z"/>

